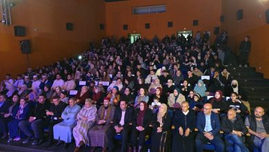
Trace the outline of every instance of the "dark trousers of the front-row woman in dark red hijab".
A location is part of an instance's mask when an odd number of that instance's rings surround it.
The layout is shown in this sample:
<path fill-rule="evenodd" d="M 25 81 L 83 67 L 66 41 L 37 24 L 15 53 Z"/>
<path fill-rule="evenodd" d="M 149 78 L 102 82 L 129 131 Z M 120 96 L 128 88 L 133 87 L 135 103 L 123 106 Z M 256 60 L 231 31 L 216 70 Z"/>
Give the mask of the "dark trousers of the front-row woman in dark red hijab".
<path fill-rule="evenodd" d="M 131 135 L 131 143 L 132 147 L 136 147 L 137 143 L 138 146 L 143 146 L 145 144 L 145 130 L 144 131 L 138 131 L 137 129 L 133 128 L 132 129 L 132 135 Z M 137 141 L 137 137 L 139 138 Z"/>

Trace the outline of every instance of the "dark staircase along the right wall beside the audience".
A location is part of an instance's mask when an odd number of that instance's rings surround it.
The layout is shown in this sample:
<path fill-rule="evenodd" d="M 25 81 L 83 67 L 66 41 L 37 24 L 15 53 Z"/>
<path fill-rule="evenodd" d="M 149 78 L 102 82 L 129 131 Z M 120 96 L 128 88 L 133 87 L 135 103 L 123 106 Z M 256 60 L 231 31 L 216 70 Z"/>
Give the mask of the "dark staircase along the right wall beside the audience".
<path fill-rule="evenodd" d="M 237 79 L 239 86 L 245 89 L 248 102 L 253 110 L 256 106 L 263 106 L 266 111 L 269 108 L 269 79 L 263 78 L 263 73 L 256 72 L 253 67 L 239 68 L 235 55 L 228 50 L 226 64 L 232 79 Z"/>

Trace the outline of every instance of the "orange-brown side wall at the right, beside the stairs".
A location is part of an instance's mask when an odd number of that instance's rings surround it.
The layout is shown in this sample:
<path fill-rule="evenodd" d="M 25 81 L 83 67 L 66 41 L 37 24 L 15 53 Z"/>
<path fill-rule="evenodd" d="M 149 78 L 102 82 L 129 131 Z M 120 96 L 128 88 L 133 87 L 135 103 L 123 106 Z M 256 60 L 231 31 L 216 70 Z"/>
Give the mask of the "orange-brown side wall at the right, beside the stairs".
<path fill-rule="evenodd" d="M 245 35 L 252 42 L 250 66 L 264 73 L 269 78 L 269 24 L 266 23 L 265 11 L 269 8 L 267 0 L 225 0 L 222 1 L 222 14 L 225 16 L 221 28 L 228 31 L 228 44 L 238 52 L 239 43 Z M 243 9 L 243 19 L 237 21 L 236 12 Z"/>

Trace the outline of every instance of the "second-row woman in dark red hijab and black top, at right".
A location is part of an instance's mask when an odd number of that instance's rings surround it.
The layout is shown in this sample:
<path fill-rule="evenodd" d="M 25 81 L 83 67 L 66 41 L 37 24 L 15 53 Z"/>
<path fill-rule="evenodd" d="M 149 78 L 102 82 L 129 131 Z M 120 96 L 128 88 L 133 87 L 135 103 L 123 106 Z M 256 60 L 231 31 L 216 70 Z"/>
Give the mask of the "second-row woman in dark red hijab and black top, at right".
<path fill-rule="evenodd" d="M 208 102 L 212 104 L 213 113 L 223 114 L 228 111 L 228 105 L 226 104 L 226 101 L 223 98 L 222 91 L 216 91 L 215 97 L 210 98 Z"/>

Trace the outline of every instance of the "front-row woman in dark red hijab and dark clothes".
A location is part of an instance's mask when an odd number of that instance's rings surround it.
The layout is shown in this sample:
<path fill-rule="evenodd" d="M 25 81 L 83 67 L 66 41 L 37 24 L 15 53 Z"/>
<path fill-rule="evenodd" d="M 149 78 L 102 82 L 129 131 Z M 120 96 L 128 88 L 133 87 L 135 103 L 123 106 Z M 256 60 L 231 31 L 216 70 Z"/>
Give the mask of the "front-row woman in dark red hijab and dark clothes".
<path fill-rule="evenodd" d="M 132 147 L 133 151 L 140 152 L 145 144 L 145 136 L 148 133 L 152 111 L 148 108 L 146 102 L 140 102 L 139 108 L 135 110 L 134 118 L 132 120 Z M 137 140 L 138 137 L 138 140 Z"/>

